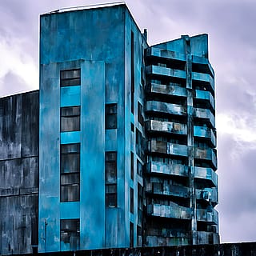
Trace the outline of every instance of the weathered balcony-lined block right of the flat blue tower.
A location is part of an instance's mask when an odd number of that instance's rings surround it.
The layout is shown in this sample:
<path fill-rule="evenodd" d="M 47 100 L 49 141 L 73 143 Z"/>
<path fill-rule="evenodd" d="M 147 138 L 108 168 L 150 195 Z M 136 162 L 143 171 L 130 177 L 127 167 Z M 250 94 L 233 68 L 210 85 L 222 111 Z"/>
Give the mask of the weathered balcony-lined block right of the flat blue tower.
<path fill-rule="evenodd" d="M 218 243 L 214 71 L 206 34 L 146 50 L 146 245 Z"/>

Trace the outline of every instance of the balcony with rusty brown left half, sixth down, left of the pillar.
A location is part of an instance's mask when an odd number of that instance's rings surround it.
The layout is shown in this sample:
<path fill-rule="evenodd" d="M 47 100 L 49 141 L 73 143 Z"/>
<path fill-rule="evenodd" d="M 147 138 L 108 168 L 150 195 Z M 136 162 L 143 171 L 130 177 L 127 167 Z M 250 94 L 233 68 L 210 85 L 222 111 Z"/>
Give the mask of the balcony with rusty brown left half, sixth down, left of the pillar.
<path fill-rule="evenodd" d="M 148 150 L 151 153 L 171 154 L 187 157 L 187 146 L 152 140 L 148 142 Z"/>

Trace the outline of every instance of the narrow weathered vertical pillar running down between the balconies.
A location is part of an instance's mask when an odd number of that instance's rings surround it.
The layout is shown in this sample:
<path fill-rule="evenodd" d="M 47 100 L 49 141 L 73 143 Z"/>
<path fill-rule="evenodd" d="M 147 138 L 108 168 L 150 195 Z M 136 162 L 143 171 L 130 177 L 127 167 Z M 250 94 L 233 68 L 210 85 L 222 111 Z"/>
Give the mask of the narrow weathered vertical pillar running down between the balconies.
<path fill-rule="evenodd" d="M 194 123 L 193 123 L 193 98 L 192 88 L 192 56 L 190 38 L 183 37 L 186 49 L 186 91 L 187 91 L 187 148 L 188 148 L 188 172 L 190 179 L 190 209 L 191 209 L 191 244 L 197 243 L 197 214 L 196 214 L 196 194 L 194 187 Z"/>

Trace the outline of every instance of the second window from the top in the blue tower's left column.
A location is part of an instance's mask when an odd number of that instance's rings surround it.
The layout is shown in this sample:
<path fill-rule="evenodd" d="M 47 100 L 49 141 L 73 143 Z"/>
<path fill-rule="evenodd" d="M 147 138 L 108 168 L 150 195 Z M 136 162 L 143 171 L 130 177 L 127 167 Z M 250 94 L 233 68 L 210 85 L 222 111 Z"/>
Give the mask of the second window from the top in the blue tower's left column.
<path fill-rule="evenodd" d="M 80 130 L 80 106 L 61 108 L 61 131 Z"/>

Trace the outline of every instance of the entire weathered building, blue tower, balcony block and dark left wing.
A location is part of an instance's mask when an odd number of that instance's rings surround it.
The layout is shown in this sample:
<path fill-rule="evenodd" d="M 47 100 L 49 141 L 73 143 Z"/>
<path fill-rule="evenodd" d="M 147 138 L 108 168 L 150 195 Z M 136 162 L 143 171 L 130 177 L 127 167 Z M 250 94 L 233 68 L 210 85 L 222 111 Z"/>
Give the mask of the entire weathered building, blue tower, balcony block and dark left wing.
<path fill-rule="evenodd" d="M 39 91 L 0 106 L 2 254 L 218 243 L 206 34 L 148 46 L 125 4 L 42 14 Z"/>

